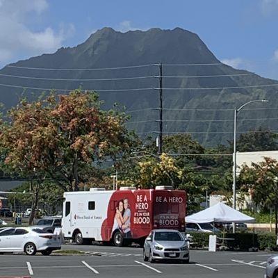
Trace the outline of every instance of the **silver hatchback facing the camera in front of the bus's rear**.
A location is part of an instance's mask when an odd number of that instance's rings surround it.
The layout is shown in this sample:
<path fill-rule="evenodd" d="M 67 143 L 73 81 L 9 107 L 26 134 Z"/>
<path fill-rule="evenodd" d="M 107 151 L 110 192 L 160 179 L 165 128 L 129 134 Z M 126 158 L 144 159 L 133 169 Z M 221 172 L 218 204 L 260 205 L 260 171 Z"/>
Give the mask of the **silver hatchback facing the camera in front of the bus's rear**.
<path fill-rule="evenodd" d="M 183 234 L 176 230 L 152 230 L 143 247 L 144 261 L 170 259 L 189 263 L 189 243 Z"/>

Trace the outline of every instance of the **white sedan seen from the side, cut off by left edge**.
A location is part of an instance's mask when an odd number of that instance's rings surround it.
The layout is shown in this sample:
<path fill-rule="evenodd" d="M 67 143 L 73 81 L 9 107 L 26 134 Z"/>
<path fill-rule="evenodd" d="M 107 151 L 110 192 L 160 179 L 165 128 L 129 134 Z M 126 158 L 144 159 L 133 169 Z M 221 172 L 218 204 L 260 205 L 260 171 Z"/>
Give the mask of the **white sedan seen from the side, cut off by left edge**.
<path fill-rule="evenodd" d="M 35 255 L 41 252 L 48 256 L 54 250 L 60 250 L 61 241 L 58 235 L 49 234 L 33 227 L 1 228 L 0 254 L 4 252 L 25 252 Z"/>

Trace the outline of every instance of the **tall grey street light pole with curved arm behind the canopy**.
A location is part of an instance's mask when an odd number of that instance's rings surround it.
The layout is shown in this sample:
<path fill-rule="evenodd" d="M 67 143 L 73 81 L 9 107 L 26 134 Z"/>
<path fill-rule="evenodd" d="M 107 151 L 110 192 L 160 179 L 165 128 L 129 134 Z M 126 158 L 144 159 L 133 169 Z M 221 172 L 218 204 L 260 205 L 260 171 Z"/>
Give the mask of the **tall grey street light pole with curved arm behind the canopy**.
<path fill-rule="evenodd" d="M 236 209 L 236 120 L 238 117 L 238 112 L 248 104 L 253 104 L 254 102 L 268 102 L 266 99 L 256 99 L 252 101 L 247 101 L 245 104 L 239 108 L 234 109 L 234 167 L 233 167 L 233 208 Z M 236 224 L 233 223 L 233 233 L 236 232 Z"/>

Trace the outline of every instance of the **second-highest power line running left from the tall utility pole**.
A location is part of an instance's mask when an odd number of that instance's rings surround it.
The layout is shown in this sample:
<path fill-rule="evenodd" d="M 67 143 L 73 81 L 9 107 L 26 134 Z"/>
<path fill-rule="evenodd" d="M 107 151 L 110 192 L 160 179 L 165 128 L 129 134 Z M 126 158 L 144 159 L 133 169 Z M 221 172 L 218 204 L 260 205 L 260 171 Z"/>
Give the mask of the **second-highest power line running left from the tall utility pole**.
<path fill-rule="evenodd" d="M 156 76 L 135 76 L 135 77 L 122 77 L 122 78 L 111 78 L 111 79 L 55 79 L 55 78 L 44 78 L 44 77 L 31 77 L 31 76 L 19 76 L 10 74 L 0 74 L 0 76 L 13 77 L 18 79 L 35 79 L 35 80 L 51 80 L 51 81 L 117 81 L 117 80 L 133 80 L 133 79 L 149 79 Z"/>

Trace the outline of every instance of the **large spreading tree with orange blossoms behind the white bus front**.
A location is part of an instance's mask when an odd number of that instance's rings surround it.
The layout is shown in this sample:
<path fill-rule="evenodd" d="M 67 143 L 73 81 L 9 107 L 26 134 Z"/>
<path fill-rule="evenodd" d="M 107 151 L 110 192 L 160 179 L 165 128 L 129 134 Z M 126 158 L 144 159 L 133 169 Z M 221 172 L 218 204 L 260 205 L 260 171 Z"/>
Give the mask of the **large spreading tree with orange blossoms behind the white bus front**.
<path fill-rule="evenodd" d="M 131 145 L 126 115 L 99 106 L 95 92 L 81 90 L 21 101 L 1 123 L 5 165 L 24 177 L 49 178 L 64 190 L 78 190 L 93 161 L 123 154 Z"/>

